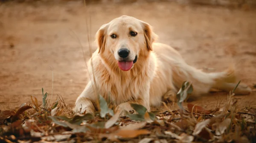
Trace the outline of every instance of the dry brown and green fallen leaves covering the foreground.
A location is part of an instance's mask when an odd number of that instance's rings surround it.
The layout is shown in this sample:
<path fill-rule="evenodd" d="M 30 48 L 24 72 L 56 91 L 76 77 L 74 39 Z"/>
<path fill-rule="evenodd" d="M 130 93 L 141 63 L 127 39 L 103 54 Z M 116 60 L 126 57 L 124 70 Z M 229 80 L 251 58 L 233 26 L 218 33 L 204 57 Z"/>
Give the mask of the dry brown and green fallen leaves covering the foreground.
<path fill-rule="evenodd" d="M 234 89 L 235 90 L 235 89 Z M 131 104 L 135 112 L 114 113 L 102 96 L 95 115 L 77 114 L 64 103 L 61 96 L 49 104 L 42 88 L 42 103 L 31 96 L 31 102 L 17 110 L 0 110 L 1 143 L 255 143 L 256 109 L 238 109 L 234 90 L 227 95 L 222 109 L 205 109 L 183 102 L 193 91 L 184 81 L 177 93 L 178 110 L 148 112 L 140 104 Z M 166 110 L 165 110 L 166 109 Z"/>

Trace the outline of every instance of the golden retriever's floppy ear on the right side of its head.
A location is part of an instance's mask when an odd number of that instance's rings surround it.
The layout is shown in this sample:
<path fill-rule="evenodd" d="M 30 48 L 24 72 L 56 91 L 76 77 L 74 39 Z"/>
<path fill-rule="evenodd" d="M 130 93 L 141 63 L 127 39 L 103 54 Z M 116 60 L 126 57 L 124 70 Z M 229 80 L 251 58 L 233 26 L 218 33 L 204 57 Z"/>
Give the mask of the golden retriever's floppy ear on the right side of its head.
<path fill-rule="evenodd" d="M 157 34 L 152 31 L 152 26 L 141 21 L 148 50 L 153 50 L 152 43 L 157 39 Z"/>

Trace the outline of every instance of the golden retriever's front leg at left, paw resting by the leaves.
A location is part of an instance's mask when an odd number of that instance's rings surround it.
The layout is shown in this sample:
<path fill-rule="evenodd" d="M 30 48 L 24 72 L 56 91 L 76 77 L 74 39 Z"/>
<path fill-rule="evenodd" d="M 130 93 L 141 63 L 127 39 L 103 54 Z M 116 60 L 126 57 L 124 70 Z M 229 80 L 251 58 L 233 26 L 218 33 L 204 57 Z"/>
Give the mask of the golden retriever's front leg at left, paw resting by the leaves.
<path fill-rule="evenodd" d="M 94 115 L 94 112 L 97 109 L 97 107 L 95 108 L 96 101 L 97 101 L 97 95 L 94 94 L 93 85 L 91 81 L 89 81 L 89 83 L 84 88 L 84 91 L 76 99 L 76 106 L 74 108 L 74 111 L 76 113 L 86 112 Z"/>

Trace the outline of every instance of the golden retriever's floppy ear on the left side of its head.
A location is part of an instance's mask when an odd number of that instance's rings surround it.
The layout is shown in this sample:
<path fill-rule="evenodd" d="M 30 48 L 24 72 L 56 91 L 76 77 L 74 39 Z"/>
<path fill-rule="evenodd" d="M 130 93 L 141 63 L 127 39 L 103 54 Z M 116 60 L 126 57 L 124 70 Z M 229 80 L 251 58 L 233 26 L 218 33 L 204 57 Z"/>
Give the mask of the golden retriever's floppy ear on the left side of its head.
<path fill-rule="evenodd" d="M 105 49 L 107 27 L 108 27 L 107 24 L 102 25 L 97 31 L 95 36 L 96 42 L 98 44 L 99 52 L 104 51 Z"/>

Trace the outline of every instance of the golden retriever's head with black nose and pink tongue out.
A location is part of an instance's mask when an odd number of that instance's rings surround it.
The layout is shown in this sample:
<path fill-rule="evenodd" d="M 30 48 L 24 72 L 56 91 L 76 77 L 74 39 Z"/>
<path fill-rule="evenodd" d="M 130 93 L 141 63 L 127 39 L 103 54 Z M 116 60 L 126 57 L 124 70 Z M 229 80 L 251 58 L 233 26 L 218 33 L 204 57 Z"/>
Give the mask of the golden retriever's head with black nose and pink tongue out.
<path fill-rule="evenodd" d="M 140 56 L 153 50 L 156 36 L 148 23 L 123 15 L 102 25 L 96 33 L 96 42 L 99 53 L 113 56 L 119 68 L 128 71 Z"/>

